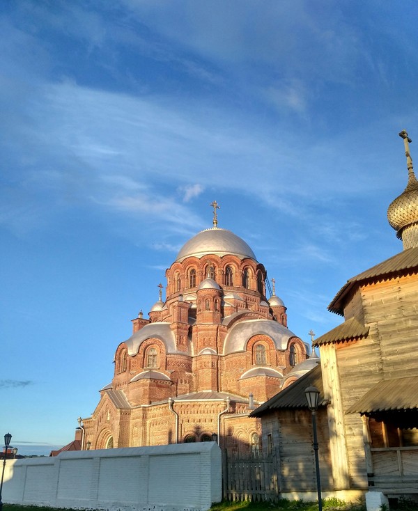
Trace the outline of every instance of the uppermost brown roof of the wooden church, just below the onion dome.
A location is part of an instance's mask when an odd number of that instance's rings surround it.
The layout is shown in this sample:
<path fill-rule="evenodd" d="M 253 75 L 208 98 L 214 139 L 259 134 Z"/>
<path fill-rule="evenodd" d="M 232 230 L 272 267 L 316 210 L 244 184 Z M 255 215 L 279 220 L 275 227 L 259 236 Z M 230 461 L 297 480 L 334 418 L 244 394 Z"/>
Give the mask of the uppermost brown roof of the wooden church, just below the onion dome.
<path fill-rule="evenodd" d="M 356 275 L 347 281 L 345 285 L 336 293 L 334 299 L 328 306 L 328 310 L 332 313 L 343 315 L 343 306 L 347 294 L 355 288 L 357 284 L 362 281 L 375 280 L 382 277 L 393 277 L 396 274 L 406 274 L 412 269 L 418 269 L 418 247 L 415 246 L 412 249 L 404 250 L 401 253 L 393 255 L 378 265 L 373 266 L 370 269 L 366 269 L 365 272 Z"/>

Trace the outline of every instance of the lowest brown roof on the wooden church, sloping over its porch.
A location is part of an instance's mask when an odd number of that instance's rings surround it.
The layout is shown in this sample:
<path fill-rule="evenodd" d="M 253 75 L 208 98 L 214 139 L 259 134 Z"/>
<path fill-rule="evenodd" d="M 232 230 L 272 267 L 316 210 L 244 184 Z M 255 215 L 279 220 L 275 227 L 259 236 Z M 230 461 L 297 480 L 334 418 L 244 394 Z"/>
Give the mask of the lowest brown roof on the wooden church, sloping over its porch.
<path fill-rule="evenodd" d="M 382 380 L 346 413 L 370 414 L 376 411 L 408 409 L 418 409 L 418 376 Z"/>

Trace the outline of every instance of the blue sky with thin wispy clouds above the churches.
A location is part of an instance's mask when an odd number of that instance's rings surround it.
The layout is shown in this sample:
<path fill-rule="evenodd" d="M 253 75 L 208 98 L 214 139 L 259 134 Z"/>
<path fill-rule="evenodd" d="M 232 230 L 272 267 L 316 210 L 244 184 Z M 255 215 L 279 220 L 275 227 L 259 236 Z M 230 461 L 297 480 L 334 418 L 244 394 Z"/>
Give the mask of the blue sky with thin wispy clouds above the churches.
<path fill-rule="evenodd" d="M 341 322 L 339 288 L 402 249 L 386 211 L 407 180 L 398 132 L 418 137 L 417 15 L 1 2 L 1 435 L 22 454 L 73 439 L 214 199 L 298 336 Z"/>

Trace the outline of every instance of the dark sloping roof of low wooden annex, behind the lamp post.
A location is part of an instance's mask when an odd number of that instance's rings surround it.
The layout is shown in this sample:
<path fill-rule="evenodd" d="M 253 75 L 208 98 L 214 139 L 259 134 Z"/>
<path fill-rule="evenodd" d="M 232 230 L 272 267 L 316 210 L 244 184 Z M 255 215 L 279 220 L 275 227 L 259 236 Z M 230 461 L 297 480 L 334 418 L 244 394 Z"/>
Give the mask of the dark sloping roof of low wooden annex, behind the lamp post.
<path fill-rule="evenodd" d="M 250 417 L 261 417 L 269 414 L 271 411 L 286 408 L 307 408 L 307 400 L 304 395 L 305 388 L 314 385 L 320 392 L 319 406 L 325 406 L 324 389 L 322 382 L 322 373 L 320 365 L 301 376 L 296 382 L 284 388 L 278 394 L 274 395 L 265 403 L 261 404 L 256 410 L 251 411 Z"/>

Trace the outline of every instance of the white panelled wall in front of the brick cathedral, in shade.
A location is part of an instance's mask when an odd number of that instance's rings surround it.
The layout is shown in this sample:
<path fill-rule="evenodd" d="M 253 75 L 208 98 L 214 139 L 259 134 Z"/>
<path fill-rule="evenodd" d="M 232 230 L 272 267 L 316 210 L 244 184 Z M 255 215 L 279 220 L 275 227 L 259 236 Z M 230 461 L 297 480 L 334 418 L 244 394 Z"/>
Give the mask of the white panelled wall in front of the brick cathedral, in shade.
<path fill-rule="evenodd" d="M 221 499 L 221 450 L 202 442 L 10 459 L 2 500 L 109 511 L 206 511 Z"/>

